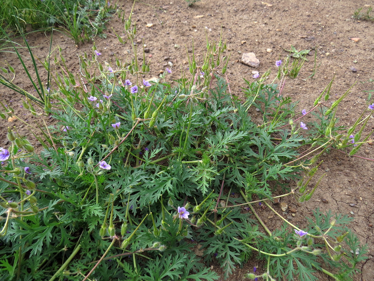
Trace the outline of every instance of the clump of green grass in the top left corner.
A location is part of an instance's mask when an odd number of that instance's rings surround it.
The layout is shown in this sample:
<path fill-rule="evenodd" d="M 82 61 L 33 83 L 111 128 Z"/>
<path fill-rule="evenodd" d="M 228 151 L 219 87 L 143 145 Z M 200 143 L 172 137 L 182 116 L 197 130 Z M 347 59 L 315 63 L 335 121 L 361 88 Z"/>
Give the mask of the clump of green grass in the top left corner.
<path fill-rule="evenodd" d="M 104 36 L 102 31 L 114 10 L 105 0 L 5 0 L 0 5 L 0 26 L 8 35 L 63 27 L 78 44 L 97 34 Z"/>

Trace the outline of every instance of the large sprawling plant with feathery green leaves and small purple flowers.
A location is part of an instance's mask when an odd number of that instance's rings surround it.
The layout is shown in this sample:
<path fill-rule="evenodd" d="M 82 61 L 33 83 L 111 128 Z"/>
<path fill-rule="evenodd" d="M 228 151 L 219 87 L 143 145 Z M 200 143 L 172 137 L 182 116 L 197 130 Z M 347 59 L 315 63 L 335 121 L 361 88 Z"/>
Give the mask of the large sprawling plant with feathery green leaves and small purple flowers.
<path fill-rule="evenodd" d="M 133 40 L 131 16 L 125 29 Z M 265 274 L 279 280 L 315 280 L 315 270 L 335 280 L 355 274 L 367 250 L 347 229 L 347 216 L 316 210 L 307 234 L 286 224 L 272 233 L 244 205 L 272 200 L 279 186 L 288 192 L 282 196 L 309 200 L 315 188 L 308 193 L 306 186 L 318 154 L 330 146 L 351 149 L 348 136 L 358 130 L 359 142 L 372 113 L 348 130 L 335 126 L 347 91 L 307 131 L 298 123 L 304 115 L 274 81 L 247 81 L 246 99 L 233 99 L 217 75 L 226 71 L 226 46 L 220 40 L 207 49 L 202 68 L 189 58 L 191 79 L 184 75 L 176 86 L 162 74 L 141 87 L 145 62 L 103 66 L 87 54 L 80 57 L 85 88 L 76 83 L 81 76 L 53 75 L 58 91 L 46 95 L 53 104 L 44 96 L 34 100 L 47 104 L 56 120 L 42 129 L 43 151 L 34 154 L 27 139 L 8 133 L 9 159 L 0 177 L 4 278 L 217 280 L 204 263 L 216 260 L 227 278 L 251 257 L 267 262 Z M 56 64 L 67 70 L 62 57 Z M 287 62 L 278 75 L 295 78 L 301 66 Z M 312 111 L 323 106 L 322 94 Z M 263 114 L 261 124 L 252 121 L 251 107 Z M 310 152 L 300 154 L 305 148 Z M 298 179 L 296 188 L 285 184 L 291 179 Z"/>

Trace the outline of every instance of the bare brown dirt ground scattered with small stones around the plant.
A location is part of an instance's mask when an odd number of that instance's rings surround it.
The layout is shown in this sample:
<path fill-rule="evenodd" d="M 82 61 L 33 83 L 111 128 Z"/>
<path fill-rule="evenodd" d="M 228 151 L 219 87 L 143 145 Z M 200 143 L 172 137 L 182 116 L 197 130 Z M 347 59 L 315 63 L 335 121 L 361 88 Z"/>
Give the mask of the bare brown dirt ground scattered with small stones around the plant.
<path fill-rule="evenodd" d="M 283 95 L 292 100 L 299 100 L 299 108 L 313 107 L 313 102 L 319 96 L 329 81 L 334 77 L 330 102 L 334 102 L 350 86 L 350 94 L 340 104 L 340 124 L 351 125 L 356 121 L 362 110 L 367 108 L 367 96 L 374 89 L 374 23 L 358 21 L 352 18 L 353 12 L 359 7 L 370 4 L 370 1 L 358 0 L 273 0 L 269 3 L 260 0 L 202 0 L 188 7 L 185 1 L 148 0 L 137 2 L 134 6 L 132 21 L 137 24 L 138 48 L 147 45 L 147 59 L 151 61 L 152 76 L 157 76 L 160 70 L 165 70 L 169 61 L 173 64 L 171 79 L 179 79 L 181 69 L 187 71 L 187 52 L 192 49 L 194 42 L 195 57 L 202 62 L 206 50 L 206 38 L 219 40 L 222 34 L 227 43 L 227 53 L 231 53 L 227 70 L 231 93 L 242 96 L 244 79 L 252 79 L 252 71 L 264 73 L 270 67 L 275 70 L 275 61 L 285 57 L 291 45 L 298 50 L 311 49 L 317 52 L 317 66 L 313 79 L 308 78 L 314 65 L 314 52 L 308 56 L 300 76 L 295 80 L 288 79 L 283 88 Z M 118 6 L 126 12 L 131 11 L 132 2 L 119 0 Z M 147 24 L 152 24 L 147 27 Z M 129 60 L 132 56 L 131 46 L 122 45 L 114 36 L 113 30 L 123 34 L 123 23 L 115 16 L 106 30 L 107 38 L 94 39 L 96 48 L 102 53 L 100 60 L 115 66 L 115 57 Z M 34 54 L 44 60 L 49 48 L 49 35 L 32 33 L 27 36 L 28 43 L 35 46 Z M 352 38 L 359 38 L 356 42 Z M 91 54 L 92 43 L 75 46 L 75 43 L 65 34 L 55 32 L 53 47 L 60 46 L 72 72 L 79 71 L 77 54 L 86 51 Z M 178 48 L 179 45 L 180 47 Z M 130 49 L 130 54 L 127 50 Z M 269 50 L 271 49 L 271 50 Z M 25 50 L 21 51 L 27 55 Z M 142 52 L 142 51 L 141 51 Z M 254 52 L 260 60 L 260 67 L 254 69 L 240 62 L 243 52 Z M 0 61 L 10 63 L 18 74 L 19 85 L 30 88 L 27 77 L 22 74 L 21 66 L 16 57 L 9 53 L 0 53 Z M 28 61 L 29 63 L 30 61 Z M 271 75 L 272 80 L 274 73 Z M 0 87 L 1 100 L 6 101 L 15 109 L 15 113 L 33 122 L 35 117 L 21 107 L 21 96 Z M 371 100 L 371 103 L 373 99 Z M 255 113 L 254 113 L 255 114 Z M 260 116 L 253 116 L 260 118 Z M 310 119 L 309 119 L 310 120 Z M 309 121 L 306 119 L 306 121 Z M 0 121 L 0 146 L 7 147 L 6 128 L 10 125 L 7 120 Z M 12 124 L 20 133 L 30 135 L 24 124 L 15 121 Z M 374 129 L 374 120 L 368 123 L 365 133 Z M 32 139 L 32 136 L 30 137 Z M 374 147 L 368 144 L 362 146 L 358 154 L 365 158 L 374 158 Z M 323 173 L 324 180 L 319 185 L 315 195 L 309 202 L 298 206 L 294 199 L 285 199 L 288 205 L 297 209 L 295 217 L 290 217 L 292 223 L 303 226 L 305 217 L 319 207 L 322 211 L 331 209 L 332 212 L 349 214 L 355 217 L 350 227 L 356 232 L 362 243 L 369 246 L 369 259 L 358 265 L 362 274 L 355 280 L 374 280 L 374 162 L 362 158 L 346 157 L 341 152 L 331 151 L 319 158 L 323 160 L 315 181 Z M 291 183 L 292 184 L 292 183 Z M 314 186 L 312 182 L 310 184 Z M 324 199 L 324 200 L 322 200 Z M 278 207 L 279 208 L 279 207 Z M 267 221 L 270 229 L 281 224 L 275 218 L 270 218 L 271 211 L 258 209 L 261 217 Z M 353 214 L 351 213 L 353 212 Z M 287 216 L 287 215 L 286 215 Z M 241 280 L 253 266 L 261 268 L 255 261 L 250 261 L 243 269 L 237 269 L 229 280 Z M 220 269 L 214 267 L 217 272 Z M 261 270 L 260 270 L 261 271 Z M 319 275 L 319 280 L 330 280 L 327 275 Z"/>

